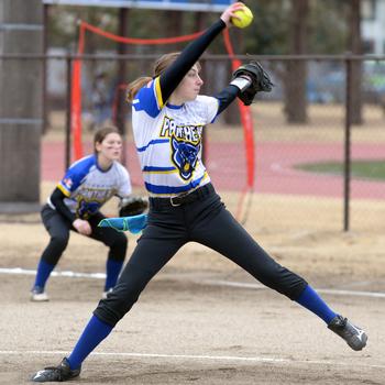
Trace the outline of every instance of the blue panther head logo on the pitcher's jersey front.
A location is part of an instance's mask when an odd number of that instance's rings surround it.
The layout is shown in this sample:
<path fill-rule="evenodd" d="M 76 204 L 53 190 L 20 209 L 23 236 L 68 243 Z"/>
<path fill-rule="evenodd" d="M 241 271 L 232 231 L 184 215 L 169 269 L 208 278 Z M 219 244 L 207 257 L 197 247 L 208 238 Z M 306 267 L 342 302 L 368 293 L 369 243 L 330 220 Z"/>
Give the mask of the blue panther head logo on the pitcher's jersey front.
<path fill-rule="evenodd" d="M 172 146 L 173 162 L 178 167 L 180 176 L 185 180 L 188 180 L 193 176 L 193 172 L 197 164 L 200 144 L 194 145 L 172 138 Z"/>

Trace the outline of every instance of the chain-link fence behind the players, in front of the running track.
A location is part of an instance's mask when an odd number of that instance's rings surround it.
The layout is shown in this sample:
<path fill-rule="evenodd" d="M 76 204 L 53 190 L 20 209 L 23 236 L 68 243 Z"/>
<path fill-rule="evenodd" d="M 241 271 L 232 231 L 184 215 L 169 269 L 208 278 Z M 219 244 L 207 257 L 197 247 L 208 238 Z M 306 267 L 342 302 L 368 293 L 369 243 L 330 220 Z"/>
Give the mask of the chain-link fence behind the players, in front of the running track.
<path fill-rule="evenodd" d="M 44 58 L 42 178 L 57 180 L 72 162 L 69 106 L 76 56 L 24 57 Z M 6 59 L 20 56 L 2 56 L 0 63 Z M 138 186 L 142 186 L 142 177 L 131 111 L 122 101 L 129 81 L 152 75 L 154 59 L 155 55 L 82 56 L 85 151 L 91 151 L 98 127 L 119 125 L 125 135 L 124 163 Z M 271 222 L 323 230 L 385 228 L 385 58 L 258 59 L 275 87 L 271 94 L 258 95 L 251 107 L 255 152 L 252 201 L 250 195 L 242 195 L 251 165 L 235 103 L 205 130 L 206 166 L 217 189 L 226 195 L 229 209 L 238 212 L 241 207 L 246 226 L 260 229 Z M 353 76 L 356 64 L 359 88 Z M 213 95 L 229 82 L 229 57 L 204 56 L 201 67 L 204 94 Z M 355 98 L 358 92 L 361 99 Z"/>

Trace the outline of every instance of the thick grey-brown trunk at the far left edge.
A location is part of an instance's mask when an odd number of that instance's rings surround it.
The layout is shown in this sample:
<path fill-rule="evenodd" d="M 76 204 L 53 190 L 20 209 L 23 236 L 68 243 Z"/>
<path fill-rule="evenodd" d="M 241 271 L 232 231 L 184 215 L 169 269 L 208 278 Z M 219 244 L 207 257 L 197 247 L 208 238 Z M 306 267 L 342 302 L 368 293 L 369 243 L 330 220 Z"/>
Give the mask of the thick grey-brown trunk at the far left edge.
<path fill-rule="evenodd" d="M 42 54 L 41 0 L 0 2 L 0 54 Z M 40 208 L 43 63 L 0 62 L 0 211 Z"/>

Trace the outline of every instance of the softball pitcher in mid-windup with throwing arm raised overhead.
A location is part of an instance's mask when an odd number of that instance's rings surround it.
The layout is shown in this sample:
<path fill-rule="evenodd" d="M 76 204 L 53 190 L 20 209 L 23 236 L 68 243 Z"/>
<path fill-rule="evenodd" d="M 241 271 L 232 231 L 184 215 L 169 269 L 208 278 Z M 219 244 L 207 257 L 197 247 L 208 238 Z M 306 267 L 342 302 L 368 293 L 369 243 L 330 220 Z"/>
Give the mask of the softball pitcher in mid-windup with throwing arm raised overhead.
<path fill-rule="evenodd" d="M 353 350 L 366 334 L 336 314 L 300 276 L 276 263 L 224 208 L 201 160 L 201 133 L 237 97 L 251 100 L 271 87 L 255 64 L 242 66 L 215 97 L 199 96 L 204 81 L 197 62 L 242 3 L 230 6 L 211 28 L 180 54 L 163 56 L 152 77 L 129 86 L 132 124 L 150 213 L 138 245 L 117 286 L 100 300 L 74 351 L 34 382 L 67 381 L 80 373 L 87 355 L 111 332 L 151 278 L 187 242 L 205 244 L 230 258 L 264 285 L 320 317 Z"/>

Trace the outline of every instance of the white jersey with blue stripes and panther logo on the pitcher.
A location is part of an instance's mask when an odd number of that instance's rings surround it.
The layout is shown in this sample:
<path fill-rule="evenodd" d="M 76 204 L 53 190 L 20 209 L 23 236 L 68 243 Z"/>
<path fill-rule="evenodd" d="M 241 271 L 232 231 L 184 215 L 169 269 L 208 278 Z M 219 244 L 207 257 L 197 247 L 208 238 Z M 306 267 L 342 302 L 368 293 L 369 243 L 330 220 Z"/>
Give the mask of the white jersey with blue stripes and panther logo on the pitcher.
<path fill-rule="evenodd" d="M 210 182 L 201 161 L 202 130 L 218 108 L 218 99 L 207 96 L 183 106 L 164 105 L 158 78 L 138 92 L 132 127 L 151 196 L 174 196 Z"/>

